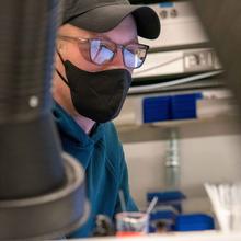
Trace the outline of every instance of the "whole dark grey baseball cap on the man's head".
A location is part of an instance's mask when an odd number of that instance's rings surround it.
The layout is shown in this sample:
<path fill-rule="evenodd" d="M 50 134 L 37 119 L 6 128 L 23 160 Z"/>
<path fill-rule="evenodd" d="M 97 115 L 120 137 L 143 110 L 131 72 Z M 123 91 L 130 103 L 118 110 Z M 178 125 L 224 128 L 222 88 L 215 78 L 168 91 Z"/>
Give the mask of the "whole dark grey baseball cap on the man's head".
<path fill-rule="evenodd" d="M 131 5 L 128 0 L 66 0 L 64 4 L 62 24 L 103 33 L 133 14 L 139 36 L 154 39 L 160 34 L 158 14 L 147 5 Z"/>

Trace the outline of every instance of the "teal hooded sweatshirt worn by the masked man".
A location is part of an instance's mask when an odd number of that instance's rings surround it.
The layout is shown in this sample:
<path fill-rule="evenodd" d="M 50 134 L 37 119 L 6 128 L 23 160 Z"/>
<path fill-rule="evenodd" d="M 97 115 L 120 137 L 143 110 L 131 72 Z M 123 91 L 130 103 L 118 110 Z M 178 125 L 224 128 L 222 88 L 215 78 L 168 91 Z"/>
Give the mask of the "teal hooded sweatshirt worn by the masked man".
<path fill-rule="evenodd" d="M 96 124 L 87 135 L 74 119 L 55 103 L 53 110 L 64 151 L 74 157 L 85 171 L 87 197 L 91 205 L 88 221 L 70 238 L 89 237 L 95 228 L 96 215 L 114 220 L 122 211 L 118 193 L 124 193 L 126 209 L 137 210 L 129 194 L 126 161 L 113 123 Z"/>

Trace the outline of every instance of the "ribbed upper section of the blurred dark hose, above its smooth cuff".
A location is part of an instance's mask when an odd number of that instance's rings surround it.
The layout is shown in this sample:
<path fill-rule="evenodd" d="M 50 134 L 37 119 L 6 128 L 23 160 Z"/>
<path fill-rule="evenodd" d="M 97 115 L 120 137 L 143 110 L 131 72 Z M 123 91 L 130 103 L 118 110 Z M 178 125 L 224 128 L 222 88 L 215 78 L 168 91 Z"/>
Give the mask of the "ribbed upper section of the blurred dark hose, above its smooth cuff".
<path fill-rule="evenodd" d="M 50 107 L 57 2 L 1 3 L 0 123 L 35 118 Z"/>

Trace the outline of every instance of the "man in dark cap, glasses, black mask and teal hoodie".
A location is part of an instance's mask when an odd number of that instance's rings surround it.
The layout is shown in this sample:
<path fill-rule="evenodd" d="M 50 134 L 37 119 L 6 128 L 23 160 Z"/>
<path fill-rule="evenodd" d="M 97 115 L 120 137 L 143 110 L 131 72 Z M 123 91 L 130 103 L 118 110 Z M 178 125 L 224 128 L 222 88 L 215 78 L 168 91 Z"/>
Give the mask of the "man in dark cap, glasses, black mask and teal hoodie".
<path fill-rule="evenodd" d="M 119 114 L 131 83 L 131 72 L 146 58 L 148 46 L 138 35 L 156 38 L 157 13 L 127 0 L 67 0 L 58 31 L 53 80 L 54 118 L 62 149 L 85 171 L 91 204 L 88 221 L 70 237 L 93 233 L 99 214 L 114 219 L 137 210 L 128 187 L 127 165 L 111 122 Z"/>

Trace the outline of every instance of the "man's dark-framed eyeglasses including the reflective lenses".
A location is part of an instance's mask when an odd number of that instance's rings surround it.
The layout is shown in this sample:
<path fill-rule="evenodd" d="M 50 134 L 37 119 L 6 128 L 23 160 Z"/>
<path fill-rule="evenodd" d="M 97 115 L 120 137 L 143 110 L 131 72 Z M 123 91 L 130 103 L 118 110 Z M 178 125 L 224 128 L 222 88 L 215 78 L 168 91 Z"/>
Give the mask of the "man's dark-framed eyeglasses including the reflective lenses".
<path fill-rule="evenodd" d="M 81 38 L 65 35 L 59 35 L 58 37 L 64 41 L 76 42 L 84 59 L 99 66 L 111 62 L 119 48 L 122 49 L 124 65 L 129 69 L 137 69 L 144 64 L 149 49 L 149 46 L 144 44 L 124 46 L 100 38 Z"/>

